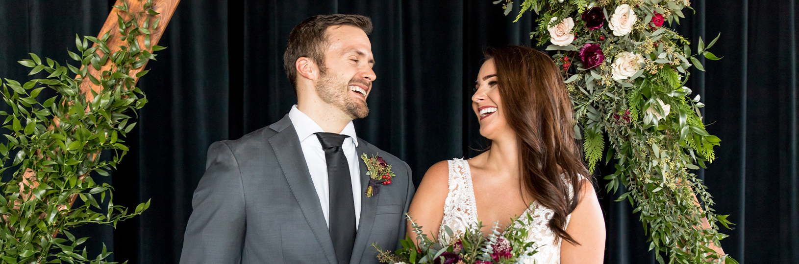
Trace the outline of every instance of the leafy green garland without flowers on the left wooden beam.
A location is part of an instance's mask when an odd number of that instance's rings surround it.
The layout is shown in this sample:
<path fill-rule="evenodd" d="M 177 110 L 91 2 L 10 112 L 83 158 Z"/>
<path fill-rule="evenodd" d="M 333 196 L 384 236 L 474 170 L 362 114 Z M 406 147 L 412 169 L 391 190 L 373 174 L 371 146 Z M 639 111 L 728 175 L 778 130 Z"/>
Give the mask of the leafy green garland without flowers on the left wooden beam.
<path fill-rule="evenodd" d="M 129 12 L 126 3 L 114 8 Z M 0 182 L 0 262 L 116 263 L 105 262 L 110 254 L 105 245 L 97 258 L 89 259 L 85 246 L 78 248 L 87 238 L 75 238 L 70 228 L 87 223 L 116 227 L 118 221 L 139 215 L 149 207 L 147 201 L 129 212 L 126 207 L 114 205 L 113 187 L 86 177 L 93 171 L 107 176 L 121 161 L 128 151 L 122 138 L 136 125 L 129 124 L 129 113 L 135 114 L 147 103 L 145 94 L 135 87 L 136 79 L 147 71 L 136 72 L 148 60 L 155 59 L 148 49 L 164 48 L 150 46 L 150 33 L 160 20 L 153 3 L 145 2 L 141 10 L 129 13 L 126 21 L 118 17 L 118 34 L 114 37 L 120 37 L 127 45 L 119 46 L 117 52 L 111 53 L 106 45 L 112 36 L 110 30 L 101 38 L 76 37 L 78 53 L 70 51 L 69 55 L 80 62 L 78 67 L 60 65 L 50 58 L 42 61 L 30 53 L 30 60 L 18 62 L 33 68 L 29 75 L 45 71 L 49 76 L 25 84 L 0 81 L 3 100 L 13 110 L 0 111 L 0 116 L 5 117 L 3 128 L 10 131 L 3 134 L 6 144 L 0 143 L 0 172 L 15 170 L 13 179 Z M 88 41 L 94 43 L 90 48 Z M 99 73 L 108 61 L 110 69 Z M 97 71 L 97 76 L 89 73 L 89 67 Z M 85 81 L 102 86 L 98 93 L 89 89 L 93 100 L 86 99 L 89 92 L 81 92 Z M 57 95 L 38 100 L 47 88 Z M 14 160 L 8 164 L 12 157 Z M 76 196 L 82 203 L 73 207 Z M 101 207 L 103 203 L 107 206 Z"/>

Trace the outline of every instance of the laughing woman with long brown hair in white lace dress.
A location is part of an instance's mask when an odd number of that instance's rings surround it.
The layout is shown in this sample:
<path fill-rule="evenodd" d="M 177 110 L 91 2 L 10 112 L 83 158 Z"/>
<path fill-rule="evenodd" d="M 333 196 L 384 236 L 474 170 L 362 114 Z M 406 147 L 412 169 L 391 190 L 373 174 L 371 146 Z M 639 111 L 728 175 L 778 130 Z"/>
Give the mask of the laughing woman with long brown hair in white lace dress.
<path fill-rule="evenodd" d="M 504 229 L 511 217 L 531 214 L 535 263 L 602 263 L 605 223 L 559 68 L 535 49 L 488 49 L 475 88 L 472 109 L 490 148 L 430 167 L 408 215 L 447 244 L 443 225 L 457 236 L 480 221 L 488 234 L 495 222 Z"/>

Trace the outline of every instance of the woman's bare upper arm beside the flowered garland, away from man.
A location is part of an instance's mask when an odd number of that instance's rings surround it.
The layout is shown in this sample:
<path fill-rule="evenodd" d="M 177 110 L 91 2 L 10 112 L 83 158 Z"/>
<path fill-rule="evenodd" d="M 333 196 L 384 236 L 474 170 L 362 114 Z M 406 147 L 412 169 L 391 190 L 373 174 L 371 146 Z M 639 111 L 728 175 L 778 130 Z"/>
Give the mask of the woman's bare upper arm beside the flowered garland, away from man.
<path fill-rule="evenodd" d="M 573 245 L 561 240 L 560 262 L 602 263 L 605 257 L 605 219 L 590 181 L 582 180 L 582 191 L 579 195 L 579 203 L 571 212 L 566 233 L 580 244 Z"/>

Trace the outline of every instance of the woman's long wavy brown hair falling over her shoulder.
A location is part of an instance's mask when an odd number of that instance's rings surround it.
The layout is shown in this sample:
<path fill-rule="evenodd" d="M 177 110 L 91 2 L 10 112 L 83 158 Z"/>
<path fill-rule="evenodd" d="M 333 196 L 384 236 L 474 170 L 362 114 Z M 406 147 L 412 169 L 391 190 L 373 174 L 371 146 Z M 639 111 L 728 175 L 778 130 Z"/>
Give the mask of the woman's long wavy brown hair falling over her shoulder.
<path fill-rule="evenodd" d="M 560 69 L 546 53 L 523 46 L 490 48 L 485 55 L 494 59 L 503 114 L 518 139 L 522 186 L 555 212 L 551 231 L 579 245 L 566 234 L 566 218 L 579 202 L 579 175 L 589 175 Z"/>

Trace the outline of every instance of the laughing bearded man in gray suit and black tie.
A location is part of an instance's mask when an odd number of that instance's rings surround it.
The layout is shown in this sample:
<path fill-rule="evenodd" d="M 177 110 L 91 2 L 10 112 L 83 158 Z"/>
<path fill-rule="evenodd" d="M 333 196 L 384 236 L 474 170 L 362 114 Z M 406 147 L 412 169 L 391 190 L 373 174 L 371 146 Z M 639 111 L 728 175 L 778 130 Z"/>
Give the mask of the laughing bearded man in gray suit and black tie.
<path fill-rule="evenodd" d="M 181 263 L 377 263 L 373 242 L 397 248 L 411 169 L 352 124 L 367 116 L 376 79 L 371 31 L 369 18 L 345 14 L 292 30 L 284 67 L 297 104 L 275 124 L 211 144 Z M 364 153 L 396 176 L 370 184 Z"/>

